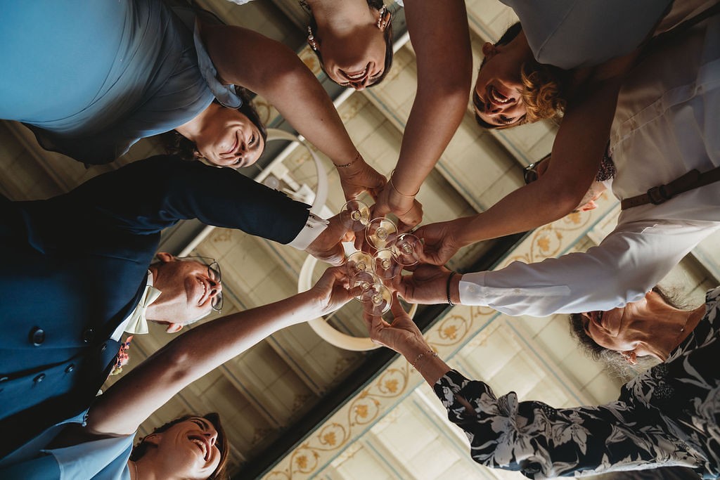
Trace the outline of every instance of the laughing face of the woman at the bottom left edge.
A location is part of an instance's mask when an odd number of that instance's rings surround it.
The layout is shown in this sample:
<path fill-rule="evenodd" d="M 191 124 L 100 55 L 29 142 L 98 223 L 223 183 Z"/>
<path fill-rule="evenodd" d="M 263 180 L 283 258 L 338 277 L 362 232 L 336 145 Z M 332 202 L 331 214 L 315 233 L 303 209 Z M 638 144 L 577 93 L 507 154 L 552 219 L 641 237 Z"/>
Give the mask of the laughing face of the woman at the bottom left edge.
<path fill-rule="evenodd" d="M 220 464 L 222 453 L 217 445 L 215 427 L 203 417 L 190 417 L 162 433 L 153 433 L 145 442 L 155 445 L 156 458 L 176 476 L 207 479 Z M 169 471 L 168 471 L 169 473 Z"/>

